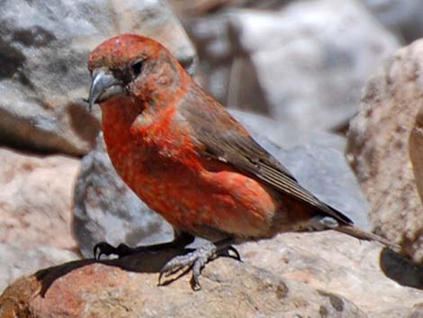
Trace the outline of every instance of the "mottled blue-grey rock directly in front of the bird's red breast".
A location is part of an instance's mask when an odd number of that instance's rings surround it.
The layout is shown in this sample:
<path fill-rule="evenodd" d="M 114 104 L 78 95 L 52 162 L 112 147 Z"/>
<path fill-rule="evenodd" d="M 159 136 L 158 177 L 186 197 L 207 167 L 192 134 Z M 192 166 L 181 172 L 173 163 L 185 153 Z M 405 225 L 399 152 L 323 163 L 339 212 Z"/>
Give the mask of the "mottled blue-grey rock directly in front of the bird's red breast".
<path fill-rule="evenodd" d="M 117 175 L 105 152 L 103 134 L 82 159 L 74 200 L 72 228 L 87 258 L 93 257 L 94 244 L 100 241 L 135 247 L 173 239 L 172 227 Z"/>

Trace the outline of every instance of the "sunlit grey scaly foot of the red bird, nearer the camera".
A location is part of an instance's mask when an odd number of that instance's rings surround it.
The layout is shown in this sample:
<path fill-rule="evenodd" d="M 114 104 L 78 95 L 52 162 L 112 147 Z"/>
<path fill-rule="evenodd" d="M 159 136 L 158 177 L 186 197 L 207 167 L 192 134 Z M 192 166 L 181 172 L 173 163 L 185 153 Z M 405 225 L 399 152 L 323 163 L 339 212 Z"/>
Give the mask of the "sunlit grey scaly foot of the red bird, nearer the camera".
<path fill-rule="evenodd" d="M 160 270 L 158 285 L 161 285 L 162 277 L 168 277 L 182 268 L 193 268 L 193 289 L 201 289 L 199 277 L 202 268 L 209 260 L 224 256 L 241 261 L 238 250 L 231 245 L 232 243 L 234 243 L 232 238 L 227 238 L 215 243 L 208 242 L 192 252 L 170 259 Z"/>

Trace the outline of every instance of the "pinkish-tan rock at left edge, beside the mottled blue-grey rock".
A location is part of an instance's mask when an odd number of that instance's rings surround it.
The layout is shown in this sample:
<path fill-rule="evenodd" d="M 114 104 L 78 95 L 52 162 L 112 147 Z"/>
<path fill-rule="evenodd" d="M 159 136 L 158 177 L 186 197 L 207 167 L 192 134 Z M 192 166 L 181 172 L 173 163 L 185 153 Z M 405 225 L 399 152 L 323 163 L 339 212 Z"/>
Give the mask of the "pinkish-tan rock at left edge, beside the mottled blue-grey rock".
<path fill-rule="evenodd" d="M 0 149 L 0 243 L 76 247 L 70 232 L 79 160 Z"/>

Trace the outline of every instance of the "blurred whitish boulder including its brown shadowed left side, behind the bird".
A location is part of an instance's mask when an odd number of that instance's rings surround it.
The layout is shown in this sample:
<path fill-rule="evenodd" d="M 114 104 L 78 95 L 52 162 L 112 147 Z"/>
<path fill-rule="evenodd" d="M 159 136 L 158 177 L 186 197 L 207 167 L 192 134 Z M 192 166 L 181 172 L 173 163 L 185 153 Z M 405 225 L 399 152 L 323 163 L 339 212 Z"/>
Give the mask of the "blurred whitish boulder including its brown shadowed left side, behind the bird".
<path fill-rule="evenodd" d="M 314 130 L 344 125 L 356 113 L 366 79 L 399 45 L 350 0 L 295 1 L 280 11 L 232 9 L 186 25 L 205 86 L 223 104 Z"/>

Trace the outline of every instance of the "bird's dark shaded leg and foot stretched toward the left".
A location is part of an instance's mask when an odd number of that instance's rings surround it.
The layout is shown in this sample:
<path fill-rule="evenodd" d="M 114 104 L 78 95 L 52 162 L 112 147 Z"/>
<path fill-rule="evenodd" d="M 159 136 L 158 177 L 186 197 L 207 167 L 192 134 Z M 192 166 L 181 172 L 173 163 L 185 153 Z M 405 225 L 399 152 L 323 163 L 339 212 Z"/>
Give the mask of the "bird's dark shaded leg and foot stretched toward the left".
<path fill-rule="evenodd" d="M 148 245 L 148 246 L 138 246 L 135 248 L 130 248 L 126 244 L 119 244 L 117 247 L 110 245 L 109 243 L 102 241 L 94 245 L 94 259 L 100 259 L 102 255 L 117 255 L 118 257 L 127 256 L 134 253 L 139 253 L 143 251 L 160 251 L 175 249 L 177 247 L 184 247 L 193 242 L 194 237 L 191 234 L 186 232 L 181 232 L 179 235 L 175 236 L 174 241 L 169 241 L 166 243 Z"/>

